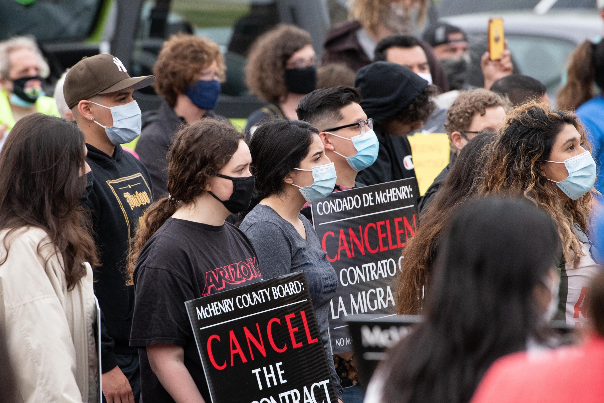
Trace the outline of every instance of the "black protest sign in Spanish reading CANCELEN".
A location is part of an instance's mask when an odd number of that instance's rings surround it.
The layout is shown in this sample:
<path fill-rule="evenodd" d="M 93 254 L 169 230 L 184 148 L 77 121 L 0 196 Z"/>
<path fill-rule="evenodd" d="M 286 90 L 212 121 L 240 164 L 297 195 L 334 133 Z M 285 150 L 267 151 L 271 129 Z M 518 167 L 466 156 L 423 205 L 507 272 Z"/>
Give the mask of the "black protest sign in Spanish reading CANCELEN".
<path fill-rule="evenodd" d="M 334 354 L 353 349 L 344 318 L 396 312 L 394 279 L 417 230 L 415 178 L 334 192 L 312 204 L 312 222 L 338 274 L 329 311 Z"/>

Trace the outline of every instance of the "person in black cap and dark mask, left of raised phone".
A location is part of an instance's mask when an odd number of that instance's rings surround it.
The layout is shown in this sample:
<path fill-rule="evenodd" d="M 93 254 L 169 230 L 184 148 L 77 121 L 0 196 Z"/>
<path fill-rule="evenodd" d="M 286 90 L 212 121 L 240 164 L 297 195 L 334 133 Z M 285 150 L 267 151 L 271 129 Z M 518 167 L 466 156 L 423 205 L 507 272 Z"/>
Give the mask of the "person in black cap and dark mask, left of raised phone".
<path fill-rule="evenodd" d="M 449 82 L 449 89 L 464 89 L 471 64 L 466 33 L 458 27 L 438 22 L 423 33 L 423 40 L 434 50 Z"/>

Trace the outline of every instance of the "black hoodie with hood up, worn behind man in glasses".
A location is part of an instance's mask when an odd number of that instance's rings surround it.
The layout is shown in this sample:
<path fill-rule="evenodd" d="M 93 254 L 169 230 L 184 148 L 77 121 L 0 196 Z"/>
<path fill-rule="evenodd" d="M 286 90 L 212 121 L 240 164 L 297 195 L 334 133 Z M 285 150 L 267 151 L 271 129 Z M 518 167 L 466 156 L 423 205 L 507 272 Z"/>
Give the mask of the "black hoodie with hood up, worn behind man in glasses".
<path fill-rule="evenodd" d="M 375 122 L 379 151 L 376 162 L 359 172 L 357 181 L 375 185 L 415 176 L 409 140 L 386 133 L 382 125 L 413 102 L 427 85 L 426 80 L 396 63 L 375 62 L 358 71 L 355 87 L 363 95 L 363 111 Z"/>

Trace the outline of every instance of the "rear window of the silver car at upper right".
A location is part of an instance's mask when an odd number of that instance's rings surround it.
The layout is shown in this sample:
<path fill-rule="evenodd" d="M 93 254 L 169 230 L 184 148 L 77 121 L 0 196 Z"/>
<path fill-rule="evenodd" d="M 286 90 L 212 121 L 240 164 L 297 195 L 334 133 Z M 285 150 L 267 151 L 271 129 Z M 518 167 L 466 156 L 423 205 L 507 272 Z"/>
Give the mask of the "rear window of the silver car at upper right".
<path fill-rule="evenodd" d="M 547 86 L 548 94 L 557 91 L 575 45 L 562 39 L 506 35 L 508 46 L 522 74 Z"/>

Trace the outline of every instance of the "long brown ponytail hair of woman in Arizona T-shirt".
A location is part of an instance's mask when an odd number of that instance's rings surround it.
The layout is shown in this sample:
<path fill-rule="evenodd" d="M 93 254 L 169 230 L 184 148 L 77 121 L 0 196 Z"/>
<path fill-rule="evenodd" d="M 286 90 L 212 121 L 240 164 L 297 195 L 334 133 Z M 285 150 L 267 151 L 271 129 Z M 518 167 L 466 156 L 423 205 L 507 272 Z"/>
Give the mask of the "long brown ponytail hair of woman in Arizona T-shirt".
<path fill-rule="evenodd" d="M 205 190 L 211 179 L 231 160 L 243 134 L 230 123 L 204 118 L 184 126 L 176 134 L 170 149 L 167 190 L 171 198 L 161 198 L 147 208 L 144 225 L 132 239 L 127 263 L 126 285 L 133 285 L 132 275 L 138 254 L 147 240 L 183 205 L 191 204 Z"/>

